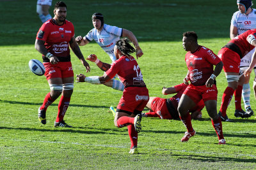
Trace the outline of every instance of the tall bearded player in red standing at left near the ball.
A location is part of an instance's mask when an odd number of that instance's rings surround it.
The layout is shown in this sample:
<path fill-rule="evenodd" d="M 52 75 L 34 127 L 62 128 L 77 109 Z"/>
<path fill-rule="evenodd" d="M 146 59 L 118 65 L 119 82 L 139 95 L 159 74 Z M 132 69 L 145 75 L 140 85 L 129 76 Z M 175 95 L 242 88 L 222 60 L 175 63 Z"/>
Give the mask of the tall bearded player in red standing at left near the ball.
<path fill-rule="evenodd" d="M 38 119 L 42 124 L 46 124 L 45 114 L 48 106 L 62 94 L 54 127 L 72 127 L 63 120 L 74 88 L 69 46 L 86 67 L 86 71 L 90 71 L 90 66 L 84 60 L 76 43 L 74 25 L 66 20 L 66 17 L 66 4 L 62 1 L 57 2 L 54 7 L 54 18 L 40 27 L 35 41 L 36 50 L 42 53 L 45 76 L 51 89 L 51 92 L 45 96 L 42 106 L 38 108 Z"/>

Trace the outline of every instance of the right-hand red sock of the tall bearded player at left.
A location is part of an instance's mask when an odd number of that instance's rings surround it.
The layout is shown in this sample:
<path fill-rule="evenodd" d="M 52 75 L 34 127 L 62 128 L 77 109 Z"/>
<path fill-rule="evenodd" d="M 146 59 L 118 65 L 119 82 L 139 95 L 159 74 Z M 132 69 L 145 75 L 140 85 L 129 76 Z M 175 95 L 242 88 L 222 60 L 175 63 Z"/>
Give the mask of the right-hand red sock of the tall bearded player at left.
<path fill-rule="evenodd" d="M 58 106 L 59 111 L 56 118 L 56 122 L 61 122 L 63 120 L 63 117 L 65 116 L 65 113 L 68 110 L 69 102 L 70 102 L 70 97 L 61 96 L 60 103 Z"/>

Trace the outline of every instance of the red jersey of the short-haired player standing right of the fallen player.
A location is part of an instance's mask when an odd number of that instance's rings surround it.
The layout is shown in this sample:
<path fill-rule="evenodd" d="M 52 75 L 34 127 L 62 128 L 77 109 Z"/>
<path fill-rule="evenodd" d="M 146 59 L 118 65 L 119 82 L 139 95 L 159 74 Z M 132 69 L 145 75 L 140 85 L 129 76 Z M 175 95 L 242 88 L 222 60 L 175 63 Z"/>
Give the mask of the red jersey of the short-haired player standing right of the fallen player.
<path fill-rule="evenodd" d="M 198 46 L 195 52 L 186 53 L 186 64 L 189 70 L 189 80 L 192 85 L 205 85 L 213 73 L 213 65 L 221 62 L 220 58 L 205 46 Z"/>

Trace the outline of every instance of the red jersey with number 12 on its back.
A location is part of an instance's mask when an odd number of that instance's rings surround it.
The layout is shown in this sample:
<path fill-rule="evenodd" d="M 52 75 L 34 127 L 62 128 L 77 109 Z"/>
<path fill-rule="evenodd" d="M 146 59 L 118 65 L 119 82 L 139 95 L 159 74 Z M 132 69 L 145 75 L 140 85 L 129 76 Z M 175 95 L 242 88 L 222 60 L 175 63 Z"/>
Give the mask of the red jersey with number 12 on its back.
<path fill-rule="evenodd" d="M 106 71 L 106 74 L 113 78 L 116 74 L 126 87 L 146 87 L 140 67 L 134 57 L 122 56 L 120 59 L 115 60 L 111 67 Z"/>

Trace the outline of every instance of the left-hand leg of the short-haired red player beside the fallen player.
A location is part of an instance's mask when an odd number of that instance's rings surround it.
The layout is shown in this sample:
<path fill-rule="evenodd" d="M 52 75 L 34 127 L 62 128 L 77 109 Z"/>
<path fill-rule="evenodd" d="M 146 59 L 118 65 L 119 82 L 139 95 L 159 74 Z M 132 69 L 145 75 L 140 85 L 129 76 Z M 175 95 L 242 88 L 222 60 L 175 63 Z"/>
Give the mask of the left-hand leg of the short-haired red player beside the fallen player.
<path fill-rule="evenodd" d="M 189 96 L 186 94 L 182 94 L 180 97 L 180 102 L 178 106 L 180 120 L 182 120 L 183 124 L 188 129 L 188 132 L 185 132 L 185 136 L 180 140 L 182 142 L 188 141 L 189 138 L 195 135 L 195 131 L 191 124 L 191 116 L 188 112 L 189 109 L 195 107 L 196 104 Z"/>

